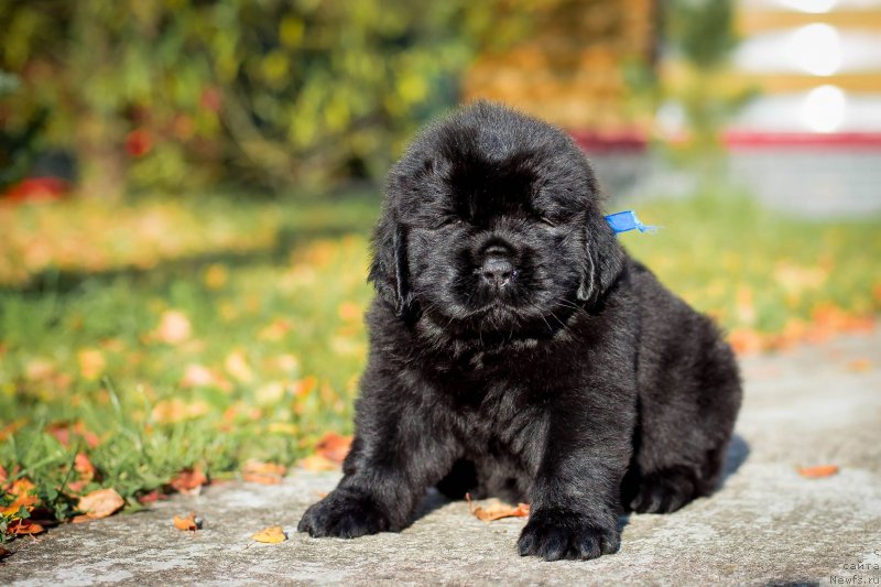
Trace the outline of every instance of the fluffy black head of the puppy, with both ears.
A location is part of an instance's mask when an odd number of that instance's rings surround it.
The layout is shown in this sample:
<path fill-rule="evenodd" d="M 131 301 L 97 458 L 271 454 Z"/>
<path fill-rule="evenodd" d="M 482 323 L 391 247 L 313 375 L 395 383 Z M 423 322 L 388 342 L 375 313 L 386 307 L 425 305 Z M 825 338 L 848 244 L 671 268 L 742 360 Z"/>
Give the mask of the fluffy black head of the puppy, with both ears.
<path fill-rule="evenodd" d="M 512 331 L 595 302 L 621 263 L 568 135 L 478 102 L 428 127 L 391 170 L 370 280 L 402 316 Z"/>

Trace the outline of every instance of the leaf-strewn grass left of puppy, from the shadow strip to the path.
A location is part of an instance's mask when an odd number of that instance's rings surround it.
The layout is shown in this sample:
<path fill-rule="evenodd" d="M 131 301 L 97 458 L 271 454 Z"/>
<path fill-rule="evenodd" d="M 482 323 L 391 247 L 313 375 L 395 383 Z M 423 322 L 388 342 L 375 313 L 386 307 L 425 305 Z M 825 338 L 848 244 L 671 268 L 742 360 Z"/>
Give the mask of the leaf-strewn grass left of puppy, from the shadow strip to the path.
<path fill-rule="evenodd" d="M 31 479 L 65 518 L 78 453 L 98 475 L 77 494 L 113 487 L 137 507 L 184 468 L 291 464 L 349 430 L 367 250 L 365 228 L 248 262 L 0 291 L 0 477 Z"/>

